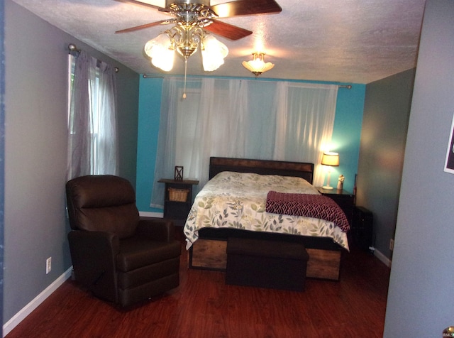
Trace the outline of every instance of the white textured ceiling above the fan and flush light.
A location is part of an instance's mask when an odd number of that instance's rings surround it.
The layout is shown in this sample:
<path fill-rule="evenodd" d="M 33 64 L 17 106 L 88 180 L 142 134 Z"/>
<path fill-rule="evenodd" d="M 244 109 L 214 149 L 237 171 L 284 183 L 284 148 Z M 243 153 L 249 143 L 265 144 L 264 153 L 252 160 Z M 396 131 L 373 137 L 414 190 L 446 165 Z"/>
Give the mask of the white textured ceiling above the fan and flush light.
<path fill-rule="evenodd" d="M 138 73 L 163 73 L 150 65 L 143 46 L 168 26 L 114 32 L 169 18 L 165 13 L 115 0 L 13 1 Z M 259 48 L 275 63 L 262 75 L 270 78 L 366 84 L 416 67 L 424 0 L 277 2 L 279 14 L 219 19 L 254 33 L 236 41 L 218 38 L 229 49 L 226 63 L 203 72 L 198 52 L 189 58 L 188 74 L 253 77 L 241 62 Z M 170 73 L 184 73 L 183 58 L 175 58 Z"/>

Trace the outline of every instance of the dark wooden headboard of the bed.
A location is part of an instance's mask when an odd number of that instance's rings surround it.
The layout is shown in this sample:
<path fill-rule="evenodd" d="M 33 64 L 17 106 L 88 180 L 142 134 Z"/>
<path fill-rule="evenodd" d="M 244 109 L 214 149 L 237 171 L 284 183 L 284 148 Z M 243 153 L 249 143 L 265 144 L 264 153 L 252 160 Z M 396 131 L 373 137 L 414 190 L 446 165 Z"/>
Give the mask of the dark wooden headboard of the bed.
<path fill-rule="evenodd" d="M 210 158 L 209 179 L 222 171 L 257 173 L 261 175 L 281 175 L 304 178 L 312 184 L 314 163 L 287 162 L 283 160 L 250 160 L 247 158 Z"/>

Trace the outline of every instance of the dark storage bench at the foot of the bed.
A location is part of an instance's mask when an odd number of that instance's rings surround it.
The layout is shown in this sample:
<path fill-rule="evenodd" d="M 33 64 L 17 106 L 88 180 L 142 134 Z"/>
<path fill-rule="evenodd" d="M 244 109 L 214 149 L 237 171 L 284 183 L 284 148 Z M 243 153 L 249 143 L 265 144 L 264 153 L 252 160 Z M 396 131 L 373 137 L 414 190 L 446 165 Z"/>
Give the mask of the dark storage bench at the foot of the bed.
<path fill-rule="evenodd" d="M 229 238 L 226 284 L 302 291 L 308 259 L 303 244 Z"/>

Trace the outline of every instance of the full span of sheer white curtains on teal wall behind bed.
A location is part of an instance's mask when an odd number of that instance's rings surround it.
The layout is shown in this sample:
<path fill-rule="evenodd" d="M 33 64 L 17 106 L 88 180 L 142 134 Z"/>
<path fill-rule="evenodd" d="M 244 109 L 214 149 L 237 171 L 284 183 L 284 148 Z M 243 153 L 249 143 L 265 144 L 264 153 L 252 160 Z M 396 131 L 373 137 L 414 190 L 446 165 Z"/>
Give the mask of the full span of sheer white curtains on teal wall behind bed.
<path fill-rule="evenodd" d="M 184 178 L 208 180 L 210 156 L 297 160 L 319 163 L 331 141 L 336 85 L 166 78 L 151 207 L 162 207 L 164 185 L 175 165 Z M 321 171 L 321 170 L 318 170 Z M 314 184 L 323 184 L 316 173 Z"/>

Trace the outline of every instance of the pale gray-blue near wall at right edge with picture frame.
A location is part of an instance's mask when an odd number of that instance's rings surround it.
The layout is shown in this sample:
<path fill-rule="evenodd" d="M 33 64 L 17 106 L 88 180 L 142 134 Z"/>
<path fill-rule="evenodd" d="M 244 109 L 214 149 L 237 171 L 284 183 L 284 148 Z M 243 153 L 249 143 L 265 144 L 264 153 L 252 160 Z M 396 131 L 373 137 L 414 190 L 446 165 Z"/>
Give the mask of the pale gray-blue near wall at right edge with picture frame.
<path fill-rule="evenodd" d="M 454 1 L 428 0 L 406 141 L 384 337 L 442 337 L 454 325 Z"/>

